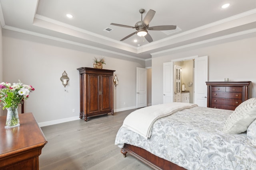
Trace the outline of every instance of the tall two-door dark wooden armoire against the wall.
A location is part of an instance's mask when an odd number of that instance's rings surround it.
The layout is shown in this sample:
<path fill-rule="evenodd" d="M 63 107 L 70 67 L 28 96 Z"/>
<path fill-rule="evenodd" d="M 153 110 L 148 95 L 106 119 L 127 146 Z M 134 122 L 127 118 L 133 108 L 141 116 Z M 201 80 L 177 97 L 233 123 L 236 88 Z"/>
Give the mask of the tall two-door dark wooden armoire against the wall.
<path fill-rule="evenodd" d="M 111 113 L 113 106 L 113 74 L 115 70 L 81 67 L 80 119 Z"/>

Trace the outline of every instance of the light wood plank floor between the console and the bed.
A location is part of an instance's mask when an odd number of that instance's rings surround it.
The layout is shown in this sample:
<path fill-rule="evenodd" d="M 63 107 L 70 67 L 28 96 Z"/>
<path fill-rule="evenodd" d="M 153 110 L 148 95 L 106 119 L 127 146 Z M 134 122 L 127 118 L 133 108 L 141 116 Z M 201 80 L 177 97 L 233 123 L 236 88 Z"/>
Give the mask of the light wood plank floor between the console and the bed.
<path fill-rule="evenodd" d="M 48 143 L 39 156 L 40 170 L 152 170 L 114 145 L 124 118 L 133 110 L 42 127 Z"/>

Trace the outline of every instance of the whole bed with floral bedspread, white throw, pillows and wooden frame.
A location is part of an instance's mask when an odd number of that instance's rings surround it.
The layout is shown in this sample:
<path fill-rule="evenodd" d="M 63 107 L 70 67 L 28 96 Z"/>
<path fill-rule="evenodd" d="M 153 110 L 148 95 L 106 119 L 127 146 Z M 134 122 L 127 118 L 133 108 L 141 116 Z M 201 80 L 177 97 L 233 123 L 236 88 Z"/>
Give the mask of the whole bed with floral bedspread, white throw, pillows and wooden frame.
<path fill-rule="evenodd" d="M 159 170 L 255 170 L 255 119 L 256 98 L 234 111 L 178 102 L 149 106 L 126 117 L 115 145 L 124 157 Z"/>

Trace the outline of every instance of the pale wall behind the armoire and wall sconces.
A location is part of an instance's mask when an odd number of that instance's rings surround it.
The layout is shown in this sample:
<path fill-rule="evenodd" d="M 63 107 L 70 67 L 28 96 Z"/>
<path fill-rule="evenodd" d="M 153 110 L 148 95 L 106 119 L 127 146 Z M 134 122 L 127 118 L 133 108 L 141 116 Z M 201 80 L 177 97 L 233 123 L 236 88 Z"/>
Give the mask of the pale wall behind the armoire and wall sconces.
<path fill-rule="evenodd" d="M 93 67 L 94 57 L 105 57 L 103 68 L 116 70 L 114 75 L 118 76 L 119 84 L 114 87 L 114 111 L 136 108 L 136 67 L 144 68 L 145 62 L 86 51 L 90 49 L 4 29 L 3 81 L 21 80 L 35 88 L 25 101 L 24 109 L 32 112 L 39 124 L 79 119 L 80 87 L 76 68 Z M 60 81 L 64 70 L 70 78 L 66 91 Z"/>

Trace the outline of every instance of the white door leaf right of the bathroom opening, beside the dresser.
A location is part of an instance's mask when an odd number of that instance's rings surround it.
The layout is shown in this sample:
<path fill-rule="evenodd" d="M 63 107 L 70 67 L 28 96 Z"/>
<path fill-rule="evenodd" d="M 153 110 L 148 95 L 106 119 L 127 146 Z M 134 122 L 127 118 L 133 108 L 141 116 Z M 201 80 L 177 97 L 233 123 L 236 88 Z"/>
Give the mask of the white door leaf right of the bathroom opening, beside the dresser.
<path fill-rule="evenodd" d="M 195 58 L 194 103 L 207 107 L 208 56 Z"/>

